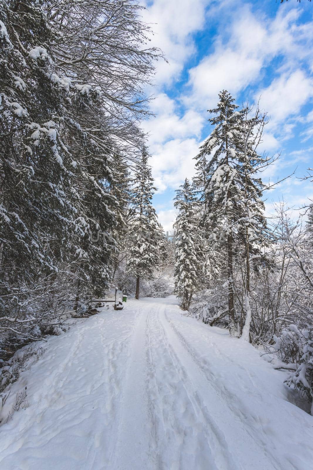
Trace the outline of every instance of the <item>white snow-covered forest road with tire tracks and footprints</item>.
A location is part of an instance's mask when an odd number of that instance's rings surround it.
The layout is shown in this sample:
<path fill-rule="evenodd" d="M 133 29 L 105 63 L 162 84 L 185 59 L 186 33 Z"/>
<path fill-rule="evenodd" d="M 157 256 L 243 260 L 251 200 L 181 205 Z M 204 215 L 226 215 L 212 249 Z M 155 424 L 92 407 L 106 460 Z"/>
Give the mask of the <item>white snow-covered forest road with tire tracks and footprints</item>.
<path fill-rule="evenodd" d="M 284 375 L 176 298 L 128 300 L 60 337 L 13 385 L 3 470 L 308 470 L 313 417 Z"/>

